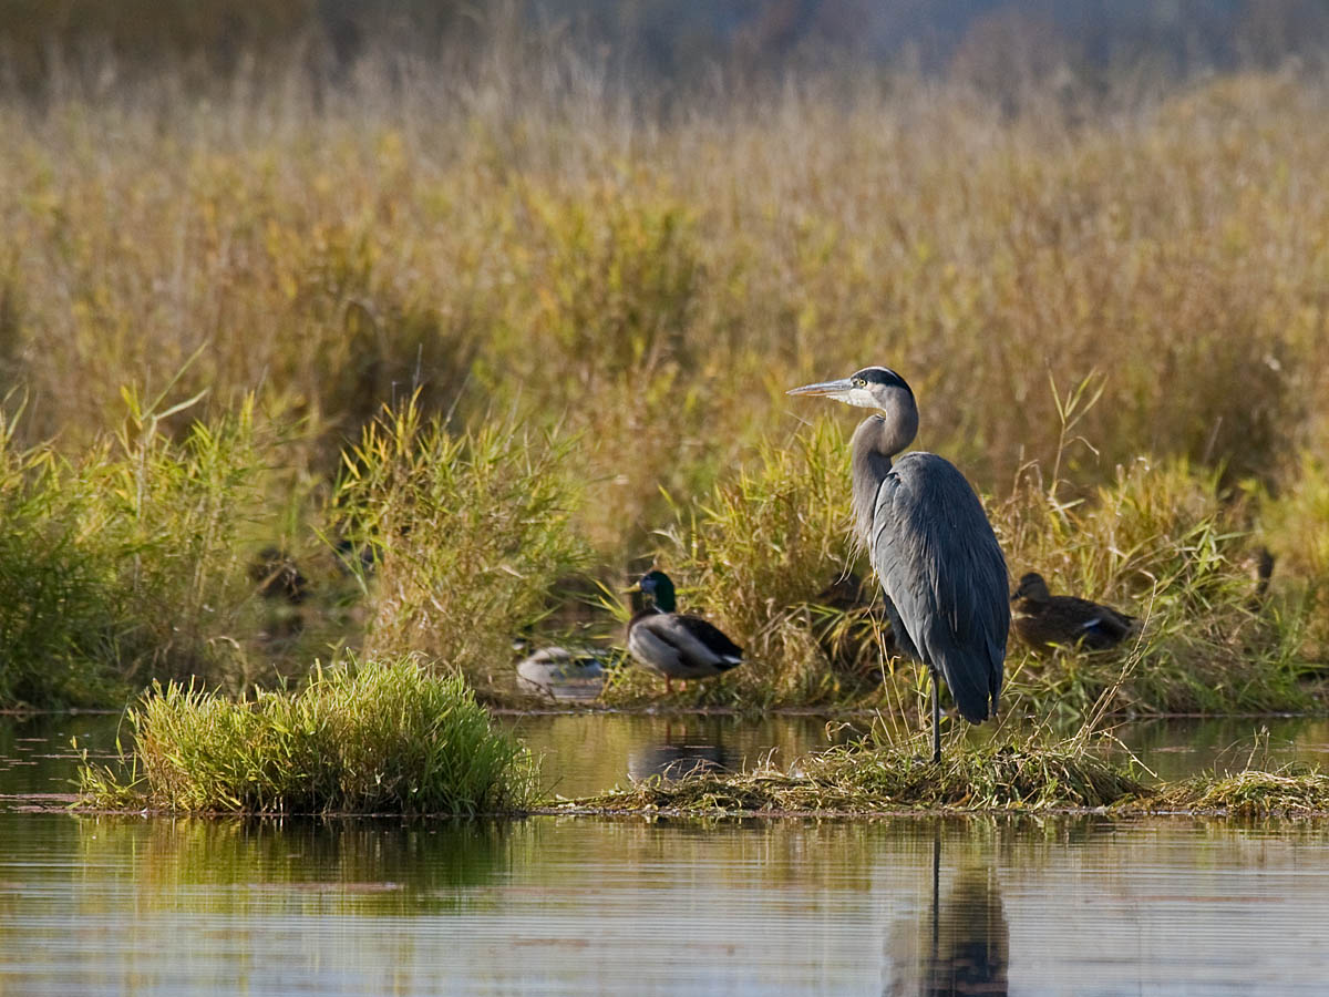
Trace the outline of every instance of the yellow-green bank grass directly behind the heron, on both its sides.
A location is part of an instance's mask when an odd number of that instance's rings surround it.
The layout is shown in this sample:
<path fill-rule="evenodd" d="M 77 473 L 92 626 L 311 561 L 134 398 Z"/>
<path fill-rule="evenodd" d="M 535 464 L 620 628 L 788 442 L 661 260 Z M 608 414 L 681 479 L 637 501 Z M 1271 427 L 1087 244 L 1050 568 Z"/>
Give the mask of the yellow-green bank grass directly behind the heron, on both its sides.
<path fill-rule="evenodd" d="M 1023 483 L 990 502 L 1015 577 L 1041 570 L 1058 592 L 1088 594 L 1142 618 L 1112 651 L 1035 654 L 1013 635 L 1003 702 L 1017 714 L 1078 722 L 1106 713 L 1260 713 L 1317 709 L 1308 631 L 1314 601 L 1289 585 L 1257 596 L 1249 565 L 1252 501 L 1225 493 L 1217 472 L 1184 461 L 1138 461 L 1074 502 Z M 926 709 L 921 670 L 892 658 L 880 619 L 837 611 L 817 596 L 849 568 L 867 572 L 845 537 L 844 441 L 821 423 L 722 483 L 683 510 L 661 558 L 682 584 L 683 608 L 718 623 L 746 663 L 675 695 L 680 705 L 793 703 Z M 873 584 L 865 586 L 869 598 Z M 880 610 L 877 617 L 880 617 Z M 855 627 L 843 647 L 827 630 Z M 865 681 L 876 678 L 876 682 Z M 641 703 L 658 682 L 629 671 L 605 698 Z"/>

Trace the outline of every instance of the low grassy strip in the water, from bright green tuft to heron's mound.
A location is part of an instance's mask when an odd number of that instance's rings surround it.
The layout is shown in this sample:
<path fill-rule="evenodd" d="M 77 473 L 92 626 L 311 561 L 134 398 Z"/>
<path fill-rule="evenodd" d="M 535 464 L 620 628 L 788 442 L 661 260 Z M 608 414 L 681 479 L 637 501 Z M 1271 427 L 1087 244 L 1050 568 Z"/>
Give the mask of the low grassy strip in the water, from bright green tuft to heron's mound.
<path fill-rule="evenodd" d="M 1329 815 L 1318 768 L 1247 767 L 1164 783 L 1106 736 L 998 731 L 952 739 L 886 734 L 726 774 L 651 776 L 582 799 L 540 799 L 536 760 L 493 728 L 460 679 L 419 661 L 319 673 L 303 691 L 253 702 L 171 686 L 130 711 L 132 746 L 85 760 L 78 806 L 171 814 L 526 812 L 744 818 L 1107 811 L 1235 818 Z M 880 734 L 880 731 L 878 731 Z M 1248 763 L 1249 766 L 1249 763 Z"/>

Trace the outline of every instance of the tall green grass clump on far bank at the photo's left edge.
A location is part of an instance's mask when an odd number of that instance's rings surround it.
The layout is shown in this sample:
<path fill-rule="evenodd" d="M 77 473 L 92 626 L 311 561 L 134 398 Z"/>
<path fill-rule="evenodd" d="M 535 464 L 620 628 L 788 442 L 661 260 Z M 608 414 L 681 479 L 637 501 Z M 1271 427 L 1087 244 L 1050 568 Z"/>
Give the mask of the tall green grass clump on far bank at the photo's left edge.
<path fill-rule="evenodd" d="M 125 399 L 120 431 L 76 461 L 0 423 L 0 707 L 118 705 L 152 678 L 245 670 L 268 445 L 253 401 L 173 431 L 190 403 Z"/>

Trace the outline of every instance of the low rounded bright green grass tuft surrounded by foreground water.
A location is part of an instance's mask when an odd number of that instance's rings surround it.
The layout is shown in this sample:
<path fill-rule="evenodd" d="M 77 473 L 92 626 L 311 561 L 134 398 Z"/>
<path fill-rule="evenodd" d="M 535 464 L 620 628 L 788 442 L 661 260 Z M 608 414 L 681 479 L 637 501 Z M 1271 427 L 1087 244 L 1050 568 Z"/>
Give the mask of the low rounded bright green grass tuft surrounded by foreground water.
<path fill-rule="evenodd" d="M 537 767 L 460 675 L 413 657 L 316 669 L 298 691 L 234 701 L 154 686 L 129 711 L 132 756 L 85 763 L 86 807 L 225 814 L 497 814 Z"/>

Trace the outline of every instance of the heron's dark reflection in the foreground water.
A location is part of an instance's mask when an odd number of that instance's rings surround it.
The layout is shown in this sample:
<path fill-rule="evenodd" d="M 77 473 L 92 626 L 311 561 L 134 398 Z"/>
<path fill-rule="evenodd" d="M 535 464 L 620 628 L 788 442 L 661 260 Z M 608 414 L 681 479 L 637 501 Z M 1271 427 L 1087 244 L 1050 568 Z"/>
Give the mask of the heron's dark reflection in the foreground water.
<path fill-rule="evenodd" d="M 997 871 L 962 865 L 941 891 L 941 840 L 933 843 L 932 905 L 921 923 L 892 932 L 892 980 L 882 993 L 1006 994 L 1010 928 Z"/>

